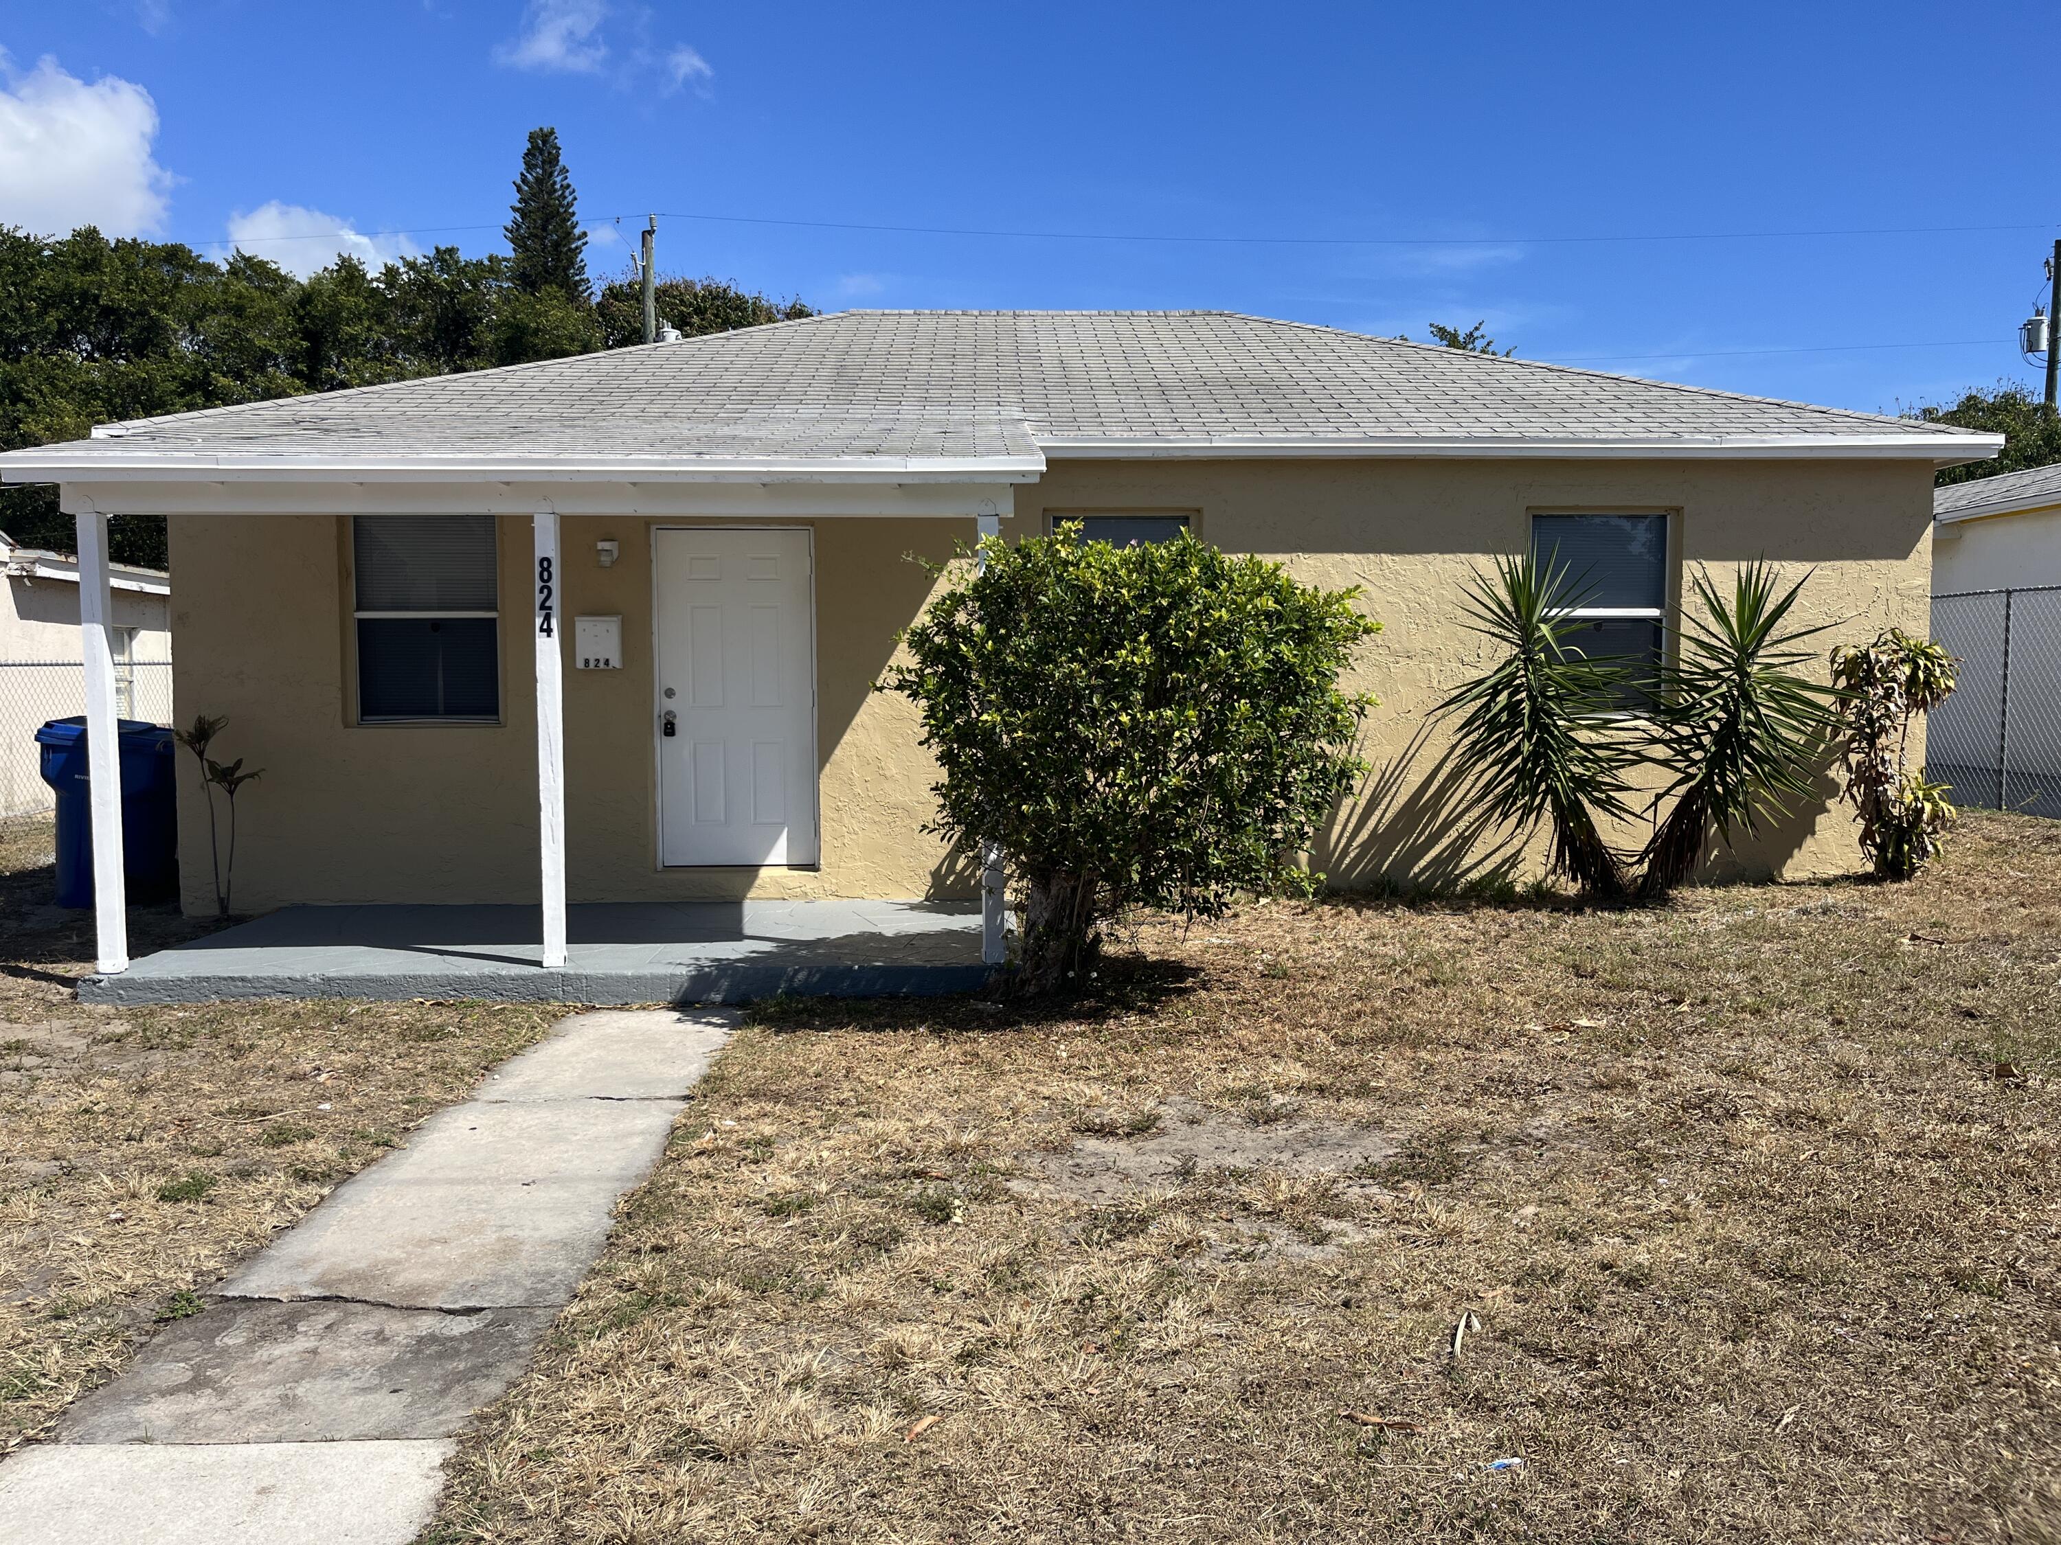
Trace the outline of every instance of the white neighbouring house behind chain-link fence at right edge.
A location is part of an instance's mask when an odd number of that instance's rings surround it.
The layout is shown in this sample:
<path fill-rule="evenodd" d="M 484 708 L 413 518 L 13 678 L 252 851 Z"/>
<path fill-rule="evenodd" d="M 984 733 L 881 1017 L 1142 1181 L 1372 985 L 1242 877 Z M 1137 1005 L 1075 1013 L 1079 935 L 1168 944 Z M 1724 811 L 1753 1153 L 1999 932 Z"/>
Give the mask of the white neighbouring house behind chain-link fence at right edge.
<path fill-rule="evenodd" d="M 1933 494 L 1933 634 L 1960 684 L 1927 772 L 1964 805 L 2061 816 L 2061 466 Z"/>

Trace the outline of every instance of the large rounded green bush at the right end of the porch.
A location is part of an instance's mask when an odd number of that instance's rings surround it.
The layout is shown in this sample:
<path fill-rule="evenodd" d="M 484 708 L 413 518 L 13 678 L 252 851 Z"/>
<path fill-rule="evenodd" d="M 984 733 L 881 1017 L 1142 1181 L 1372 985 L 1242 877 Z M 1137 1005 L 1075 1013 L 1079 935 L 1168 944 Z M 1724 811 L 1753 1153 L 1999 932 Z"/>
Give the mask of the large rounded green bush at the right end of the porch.
<path fill-rule="evenodd" d="M 932 830 L 993 845 L 1020 886 L 1018 989 L 1078 985 L 1127 908 L 1307 892 L 1298 855 L 1362 770 L 1373 698 L 1338 686 L 1379 630 L 1356 591 L 1187 536 L 1115 548 L 1076 525 L 981 552 L 880 688 L 921 709 Z"/>

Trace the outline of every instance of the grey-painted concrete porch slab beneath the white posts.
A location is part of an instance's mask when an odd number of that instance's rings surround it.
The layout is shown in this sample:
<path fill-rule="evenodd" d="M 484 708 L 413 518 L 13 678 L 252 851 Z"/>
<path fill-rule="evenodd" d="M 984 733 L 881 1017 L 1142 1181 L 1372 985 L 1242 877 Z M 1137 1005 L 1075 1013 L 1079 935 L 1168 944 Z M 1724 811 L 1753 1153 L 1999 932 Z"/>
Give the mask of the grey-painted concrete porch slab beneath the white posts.
<path fill-rule="evenodd" d="M 965 993 L 987 978 L 979 908 L 960 902 L 610 902 L 573 906 L 569 935 L 569 964 L 544 970 L 534 906 L 286 906 L 87 976 L 78 997 L 746 1003 Z"/>

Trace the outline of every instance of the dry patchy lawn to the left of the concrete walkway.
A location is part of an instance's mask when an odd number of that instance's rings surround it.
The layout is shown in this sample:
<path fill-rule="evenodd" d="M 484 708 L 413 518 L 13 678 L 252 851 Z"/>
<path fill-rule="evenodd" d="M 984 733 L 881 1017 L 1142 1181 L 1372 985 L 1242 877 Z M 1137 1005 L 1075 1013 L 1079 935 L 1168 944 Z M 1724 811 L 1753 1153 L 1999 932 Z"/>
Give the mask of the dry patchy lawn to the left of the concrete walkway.
<path fill-rule="evenodd" d="M 0 824 L 0 1452 L 563 1009 L 82 1005 L 91 915 Z M 134 908 L 136 952 L 206 931 Z"/>

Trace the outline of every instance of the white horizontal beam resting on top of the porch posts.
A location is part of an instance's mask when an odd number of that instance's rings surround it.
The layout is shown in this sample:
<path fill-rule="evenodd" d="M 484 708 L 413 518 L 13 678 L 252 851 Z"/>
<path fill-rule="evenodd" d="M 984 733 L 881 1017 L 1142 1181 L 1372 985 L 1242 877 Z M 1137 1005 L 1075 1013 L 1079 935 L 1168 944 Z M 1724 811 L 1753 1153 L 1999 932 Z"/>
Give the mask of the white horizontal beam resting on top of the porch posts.
<path fill-rule="evenodd" d="M 315 482 L 305 478 L 68 480 L 70 515 L 655 515 L 719 519 L 969 519 L 1016 513 L 1016 482 Z"/>

